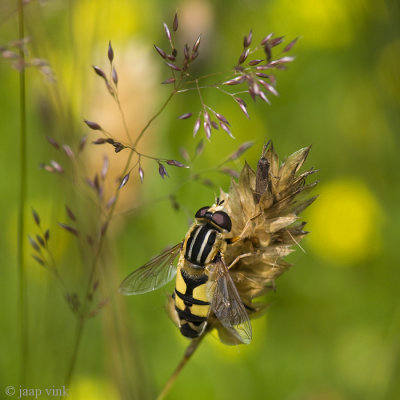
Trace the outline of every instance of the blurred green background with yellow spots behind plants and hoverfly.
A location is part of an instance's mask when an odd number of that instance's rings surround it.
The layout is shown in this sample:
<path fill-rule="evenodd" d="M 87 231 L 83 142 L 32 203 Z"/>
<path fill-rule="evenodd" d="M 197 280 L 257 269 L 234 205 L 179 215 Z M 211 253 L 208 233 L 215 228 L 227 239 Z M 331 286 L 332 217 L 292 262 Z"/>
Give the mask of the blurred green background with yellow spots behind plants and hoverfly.
<path fill-rule="evenodd" d="M 236 104 L 209 90 L 207 104 L 226 115 L 236 140 L 214 133 L 195 171 L 218 164 L 240 143 L 256 144 L 244 158 L 255 166 L 262 144 L 273 139 L 285 158 L 312 144 L 306 166 L 320 170 L 319 199 L 304 214 L 311 234 L 305 254 L 289 257 L 295 267 L 277 281 L 268 296 L 266 317 L 254 321 L 249 346 L 224 347 L 216 335 L 202 343 L 172 388 L 169 399 L 397 399 L 400 398 L 400 237 L 398 146 L 400 129 L 400 6 L 395 1 L 271 0 L 182 1 L 79 0 L 32 1 L 25 7 L 29 57 L 49 61 L 51 82 L 34 68 L 27 75 L 28 197 L 26 234 L 34 235 L 30 210 L 51 231 L 60 274 L 81 295 L 90 255 L 57 227 L 67 221 L 65 204 L 96 226 L 85 200 L 84 183 L 48 174 L 38 165 L 51 159 L 67 163 L 46 141 L 54 137 L 76 149 L 83 135 L 95 135 L 82 123 L 95 120 L 116 136 L 118 109 L 91 70 L 107 67 L 113 42 L 121 103 L 134 133 L 168 95 L 159 83 L 168 70 L 153 49 L 167 42 L 162 22 L 178 10 L 183 40 L 203 33 L 198 75 L 229 70 L 241 52 L 242 38 L 253 29 L 259 41 L 269 32 L 300 36 L 296 60 L 278 74 L 280 96 L 267 106 L 250 100 L 247 120 Z M 16 3 L 0 5 L 0 45 L 18 37 Z M 27 379 L 20 380 L 17 269 L 19 187 L 18 72 L 0 60 L 0 391 L 58 388 L 71 358 L 76 318 L 54 277 L 35 263 L 26 244 L 29 357 Z M 191 154 L 193 121 L 177 121 L 199 110 L 192 94 L 174 100 L 145 137 L 143 151 L 181 159 Z M 203 132 L 199 133 L 202 136 Z M 93 176 L 105 148 L 90 146 L 78 170 Z M 121 171 L 121 156 L 110 157 L 110 181 Z M 122 153 L 121 153 L 122 154 Z M 187 345 L 164 311 L 166 293 L 135 298 L 114 294 L 119 281 L 165 246 L 180 241 L 188 221 L 213 202 L 217 189 L 189 182 L 190 171 L 169 168 L 162 181 L 157 167 L 144 164 L 145 180 L 132 173 L 110 227 L 101 257 L 98 299 L 111 296 L 87 321 L 77 368 L 69 387 L 72 399 L 151 399 L 161 390 Z M 229 177 L 210 172 L 227 190 Z M 124 188 L 125 189 L 125 188 Z M 174 193 L 180 208 L 163 196 Z M 92 207 L 93 208 L 93 207 Z M 86 215 L 88 214 L 88 215 Z M 86 218 L 86 219 L 85 219 Z M 92 218 L 92 220 L 91 220 Z M 89 229 L 89 228 L 88 228 Z M 96 304 L 96 303 L 95 303 Z M 17 396 L 18 392 L 15 394 Z M 42 394 L 41 398 L 46 395 Z"/>

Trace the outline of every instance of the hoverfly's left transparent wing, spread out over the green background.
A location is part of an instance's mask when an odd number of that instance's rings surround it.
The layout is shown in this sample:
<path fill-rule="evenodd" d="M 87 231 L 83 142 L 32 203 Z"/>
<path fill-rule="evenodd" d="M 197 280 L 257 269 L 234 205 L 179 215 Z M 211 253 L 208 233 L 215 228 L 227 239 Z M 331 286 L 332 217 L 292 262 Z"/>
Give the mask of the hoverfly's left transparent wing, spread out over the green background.
<path fill-rule="evenodd" d="M 182 242 L 165 250 L 148 263 L 130 273 L 121 283 L 119 291 L 130 296 L 147 293 L 164 286 L 176 274 L 174 260 L 181 250 Z"/>

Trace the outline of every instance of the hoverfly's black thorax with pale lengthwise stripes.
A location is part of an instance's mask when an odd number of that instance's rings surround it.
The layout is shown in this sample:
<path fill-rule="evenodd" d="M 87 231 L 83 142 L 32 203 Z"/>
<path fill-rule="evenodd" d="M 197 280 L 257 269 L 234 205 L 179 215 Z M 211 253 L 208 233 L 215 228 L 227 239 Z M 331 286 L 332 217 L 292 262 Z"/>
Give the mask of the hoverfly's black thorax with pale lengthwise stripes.
<path fill-rule="evenodd" d="M 215 228 L 208 224 L 196 225 L 186 243 L 185 258 L 192 264 L 204 266 L 215 257 Z"/>

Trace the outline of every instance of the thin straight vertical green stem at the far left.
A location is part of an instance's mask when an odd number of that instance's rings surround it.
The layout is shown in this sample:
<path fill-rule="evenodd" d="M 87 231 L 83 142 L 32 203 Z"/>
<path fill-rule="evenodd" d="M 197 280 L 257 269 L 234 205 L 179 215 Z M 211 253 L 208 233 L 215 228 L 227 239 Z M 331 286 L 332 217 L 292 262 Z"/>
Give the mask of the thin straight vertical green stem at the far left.
<path fill-rule="evenodd" d="M 19 39 L 24 37 L 24 6 L 23 0 L 18 0 L 18 31 Z M 28 308 L 25 276 L 25 203 L 26 203 L 26 97 L 25 97 L 25 55 L 22 47 L 19 50 L 22 68 L 19 71 L 19 103 L 20 103 L 20 187 L 18 210 L 18 271 L 19 271 L 19 316 L 20 316 L 20 346 L 21 346 L 21 384 L 26 381 L 28 363 Z"/>

